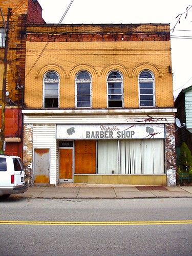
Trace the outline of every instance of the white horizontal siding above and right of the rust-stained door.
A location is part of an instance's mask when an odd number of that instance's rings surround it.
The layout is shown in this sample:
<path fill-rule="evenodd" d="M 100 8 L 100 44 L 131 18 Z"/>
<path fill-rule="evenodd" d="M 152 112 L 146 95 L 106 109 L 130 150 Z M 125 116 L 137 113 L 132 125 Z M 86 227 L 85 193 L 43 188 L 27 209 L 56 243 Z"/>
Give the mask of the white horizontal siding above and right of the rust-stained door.
<path fill-rule="evenodd" d="M 33 147 L 50 148 L 50 184 L 56 184 L 56 125 L 34 125 Z"/>

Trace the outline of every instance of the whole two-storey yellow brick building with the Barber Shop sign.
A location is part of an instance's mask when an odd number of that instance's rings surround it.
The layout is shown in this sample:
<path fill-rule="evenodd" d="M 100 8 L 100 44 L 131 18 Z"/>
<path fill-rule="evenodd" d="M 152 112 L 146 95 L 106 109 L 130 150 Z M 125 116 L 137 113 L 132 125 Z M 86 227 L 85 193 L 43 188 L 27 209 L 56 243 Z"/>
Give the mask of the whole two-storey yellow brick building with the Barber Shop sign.
<path fill-rule="evenodd" d="M 27 25 L 32 183 L 175 185 L 168 24 Z"/>

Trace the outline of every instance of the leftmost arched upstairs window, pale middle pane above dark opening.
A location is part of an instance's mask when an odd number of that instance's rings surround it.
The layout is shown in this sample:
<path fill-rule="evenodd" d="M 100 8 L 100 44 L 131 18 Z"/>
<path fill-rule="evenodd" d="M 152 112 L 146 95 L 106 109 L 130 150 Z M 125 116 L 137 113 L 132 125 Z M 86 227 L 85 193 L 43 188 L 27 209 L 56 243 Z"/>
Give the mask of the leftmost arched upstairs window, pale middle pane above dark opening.
<path fill-rule="evenodd" d="M 59 77 L 51 71 L 44 76 L 44 108 L 59 107 Z"/>

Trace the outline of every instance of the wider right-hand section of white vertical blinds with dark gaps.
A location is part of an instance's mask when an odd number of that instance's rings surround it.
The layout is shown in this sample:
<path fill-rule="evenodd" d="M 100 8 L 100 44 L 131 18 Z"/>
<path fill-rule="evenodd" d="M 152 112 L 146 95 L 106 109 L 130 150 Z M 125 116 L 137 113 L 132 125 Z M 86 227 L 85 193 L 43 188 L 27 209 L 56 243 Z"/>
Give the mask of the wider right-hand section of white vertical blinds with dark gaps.
<path fill-rule="evenodd" d="M 163 174 L 163 140 L 121 140 L 121 174 Z"/>

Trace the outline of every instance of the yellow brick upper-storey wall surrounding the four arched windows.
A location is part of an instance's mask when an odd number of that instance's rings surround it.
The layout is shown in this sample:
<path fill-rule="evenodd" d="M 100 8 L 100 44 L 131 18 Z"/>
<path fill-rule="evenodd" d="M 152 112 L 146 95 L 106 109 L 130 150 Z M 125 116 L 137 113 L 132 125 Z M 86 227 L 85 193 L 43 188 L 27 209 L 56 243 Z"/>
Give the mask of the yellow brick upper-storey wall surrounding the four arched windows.
<path fill-rule="evenodd" d="M 156 108 L 173 106 L 170 41 L 27 42 L 25 105 L 42 108 L 43 77 L 56 71 L 60 78 L 59 108 L 75 108 L 75 75 L 86 70 L 92 77 L 92 108 L 107 108 L 106 77 L 112 70 L 123 75 L 124 108 L 139 108 L 138 75 L 155 76 Z"/>

